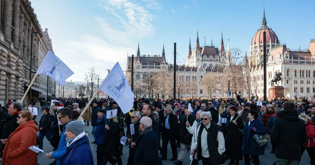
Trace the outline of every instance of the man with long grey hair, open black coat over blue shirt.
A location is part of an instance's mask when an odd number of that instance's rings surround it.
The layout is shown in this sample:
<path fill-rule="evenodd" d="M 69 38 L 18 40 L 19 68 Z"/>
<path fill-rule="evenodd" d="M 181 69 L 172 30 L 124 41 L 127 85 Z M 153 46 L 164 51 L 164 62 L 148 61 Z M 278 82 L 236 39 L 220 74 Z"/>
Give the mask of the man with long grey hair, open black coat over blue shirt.
<path fill-rule="evenodd" d="M 164 119 L 162 120 L 162 157 L 161 160 L 167 160 L 167 145 L 171 141 L 171 148 L 173 157 L 170 161 L 177 160 L 176 138 L 180 135 L 178 118 L 175 111 L 171 107 L 165 107 Z"/>

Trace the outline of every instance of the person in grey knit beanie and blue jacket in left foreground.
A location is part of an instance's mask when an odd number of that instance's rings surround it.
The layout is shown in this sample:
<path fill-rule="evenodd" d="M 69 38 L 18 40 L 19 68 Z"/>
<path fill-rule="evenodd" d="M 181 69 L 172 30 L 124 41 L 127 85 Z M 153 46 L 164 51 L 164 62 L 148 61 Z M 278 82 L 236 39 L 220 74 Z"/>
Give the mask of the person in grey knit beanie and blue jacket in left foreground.
<path fill-rule="evenodd" d="M 66 125 L 66 153 L 60 159 L 60 164 L 68 165 L 94 165 L 92 150 L 89 140 L 84 132 L 81 121 L 71 121 Z"/>

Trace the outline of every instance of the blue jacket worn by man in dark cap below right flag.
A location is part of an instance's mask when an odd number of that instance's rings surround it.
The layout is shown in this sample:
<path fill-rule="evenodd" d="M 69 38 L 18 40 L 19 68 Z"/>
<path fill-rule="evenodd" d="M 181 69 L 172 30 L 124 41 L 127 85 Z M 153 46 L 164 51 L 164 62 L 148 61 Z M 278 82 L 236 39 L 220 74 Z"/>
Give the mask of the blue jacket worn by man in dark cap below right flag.
<path fill-rule="evenodd" d="M 95 128 L 95 144 L 105 144 L 106 132 L 107 129 L 105 125 L 108 124 L 109 121 L 106 119 L 106 115 L 104 114 L 102 118 L 97 119 L 97 126 Z"/>

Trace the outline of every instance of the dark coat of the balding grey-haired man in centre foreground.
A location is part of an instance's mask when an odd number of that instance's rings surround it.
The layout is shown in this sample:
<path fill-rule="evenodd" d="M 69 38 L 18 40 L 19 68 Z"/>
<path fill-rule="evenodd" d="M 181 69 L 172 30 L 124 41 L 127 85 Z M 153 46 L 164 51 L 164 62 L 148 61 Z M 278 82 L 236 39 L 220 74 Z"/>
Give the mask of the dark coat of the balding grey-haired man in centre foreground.
<path fill-rule="evenodd" d="M 146 128 L 148 131 L 144 135 L 139 135 L 136 143 L 135 165 L 158 165 L 158 141 L 152 128 Z M 146 131 L 146 130 L 144 130 Z"/>

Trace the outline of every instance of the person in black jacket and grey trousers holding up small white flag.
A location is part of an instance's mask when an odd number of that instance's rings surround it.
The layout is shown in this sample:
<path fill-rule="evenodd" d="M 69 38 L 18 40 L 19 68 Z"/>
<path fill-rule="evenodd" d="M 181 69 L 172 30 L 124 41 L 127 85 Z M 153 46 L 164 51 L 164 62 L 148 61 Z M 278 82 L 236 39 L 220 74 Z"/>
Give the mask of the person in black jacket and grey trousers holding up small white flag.
<path fill-rule="evenodd" d="M 184 111 L 185 117 L 180 120 L 180 140 L 181 140 L 181 148 L 178 153 L 177 162 L 174 162 L 174 164 L 181 165 L 183 164 L 183 159 L 186 156 L 187 149 L 192 144 L 192 134 L 190 134 L 186 127 L 186 122 L 189 123 L 189 125 L 192 125 L 196 118 L 194 118 L 190 111 L 188 111 L 188 107 L 185 106 Z M 187 117 L 188 116 L 188 117 Z"/>

